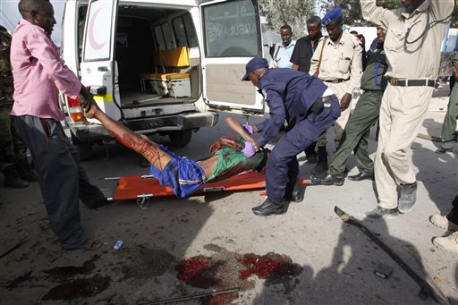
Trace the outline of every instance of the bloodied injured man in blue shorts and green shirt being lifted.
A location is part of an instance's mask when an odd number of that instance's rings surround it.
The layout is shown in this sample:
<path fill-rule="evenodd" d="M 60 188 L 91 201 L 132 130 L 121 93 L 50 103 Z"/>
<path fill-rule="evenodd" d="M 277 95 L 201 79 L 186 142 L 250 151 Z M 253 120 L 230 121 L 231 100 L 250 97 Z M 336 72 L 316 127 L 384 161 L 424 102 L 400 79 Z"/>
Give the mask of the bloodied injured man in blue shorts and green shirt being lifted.
<path fill-rule="evenodd" d="M 256 148 L 250 132 L 231 116 L 226 118 L 225 123 L 240 138 L 236 140 L 221 137 L 210 146 L 212 157 L 194 161 L 180 157 L 165 146 L 115 122 L 98 108 L 94 100 L 88 105 L 81 106 L 87 118 L 97 119 L 125 147 L 148 159 L 151 164 L 150 174 L 157 178 L 161 185 L 172 188 L 178 198 L 190 196 L 204 183 L 221 181 L 245 171 L 263 172 L 267 163 L 269 150 Z M 293 189 L 287 192 L 286 196 L 293 196 Z"/>

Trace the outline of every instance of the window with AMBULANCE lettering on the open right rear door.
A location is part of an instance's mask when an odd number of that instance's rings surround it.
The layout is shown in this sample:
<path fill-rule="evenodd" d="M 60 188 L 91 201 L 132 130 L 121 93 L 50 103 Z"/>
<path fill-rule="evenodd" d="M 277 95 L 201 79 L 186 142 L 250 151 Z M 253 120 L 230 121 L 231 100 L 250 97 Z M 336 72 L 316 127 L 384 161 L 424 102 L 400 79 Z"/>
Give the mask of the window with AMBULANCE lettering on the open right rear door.
<path fill-rule="evenodd" d="M 259 21 L 252 0 L 210 4 L 202 8 L 208 57 L 252 57 L 260 54 Z"/>

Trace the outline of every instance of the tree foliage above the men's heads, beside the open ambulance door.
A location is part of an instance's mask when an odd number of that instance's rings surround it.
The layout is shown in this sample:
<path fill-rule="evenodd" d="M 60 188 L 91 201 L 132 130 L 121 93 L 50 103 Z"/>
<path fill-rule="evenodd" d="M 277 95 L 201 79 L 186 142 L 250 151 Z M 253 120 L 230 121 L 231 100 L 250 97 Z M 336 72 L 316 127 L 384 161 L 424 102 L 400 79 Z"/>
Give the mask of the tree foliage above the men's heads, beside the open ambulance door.
<path fill-rule="evenodd" d="M 315 14 L 314 0 L 259 0 L 259 7 L 268 30 L 279 33 L 280 27 L 288 24 L 295 39 L 304 35 L 305 21 Z"/>

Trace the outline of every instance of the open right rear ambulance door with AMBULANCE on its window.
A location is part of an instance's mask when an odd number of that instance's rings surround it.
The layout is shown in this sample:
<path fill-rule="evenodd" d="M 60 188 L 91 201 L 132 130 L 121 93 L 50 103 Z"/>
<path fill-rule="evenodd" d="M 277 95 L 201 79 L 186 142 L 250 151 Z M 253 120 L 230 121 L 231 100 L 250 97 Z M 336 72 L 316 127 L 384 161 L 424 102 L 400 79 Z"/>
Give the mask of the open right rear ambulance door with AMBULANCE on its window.
<path fill-rule="evenodd" d="M 204 101 L 213 109 L 263 114 L 264 100 L 250 81 L 245 64 L 262 55 L 258 0 L 201 3 Z"/>

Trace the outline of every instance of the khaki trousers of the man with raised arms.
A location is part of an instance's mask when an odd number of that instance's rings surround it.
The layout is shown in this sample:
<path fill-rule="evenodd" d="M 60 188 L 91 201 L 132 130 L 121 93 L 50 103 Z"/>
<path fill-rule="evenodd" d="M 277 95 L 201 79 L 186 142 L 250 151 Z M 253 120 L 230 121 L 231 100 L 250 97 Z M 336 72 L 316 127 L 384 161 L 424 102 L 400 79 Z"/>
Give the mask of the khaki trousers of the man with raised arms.
<path fill-rule="evenodd" d="M 388 84 L 380 106 L 375 179 L 378 205 L 397 208 L 399 184 L 416 181 L 408 157 L 428 110 L 432 87 L 398 87 Z"/>

